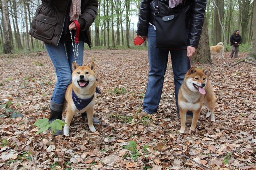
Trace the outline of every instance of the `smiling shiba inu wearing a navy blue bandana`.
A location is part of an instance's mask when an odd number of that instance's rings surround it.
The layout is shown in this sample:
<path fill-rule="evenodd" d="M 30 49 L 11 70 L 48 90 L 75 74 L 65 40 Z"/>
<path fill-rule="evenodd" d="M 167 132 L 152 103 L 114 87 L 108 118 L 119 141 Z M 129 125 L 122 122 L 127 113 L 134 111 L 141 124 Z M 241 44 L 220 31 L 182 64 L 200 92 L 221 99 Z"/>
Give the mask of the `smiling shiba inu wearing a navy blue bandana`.
<path fill-rule="evenodd" d="M 69 136 L 69 126 L 73 116 L 80 112 L 87 112 L 88 125 L 91 132 L 96 129 L 92 123 L 93 106 L 95 104 L 96 95 L 96 75 L 95 64 L 90 63 L 89 66 L 79 66 L 76 62 L 72 64 L 72 83 L 68 85 L 66 91 L 67 114 L 63 134 Z M 100 92 L 98 92 L 100 93 Z"/>

